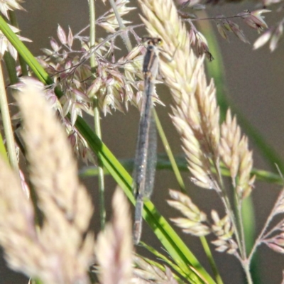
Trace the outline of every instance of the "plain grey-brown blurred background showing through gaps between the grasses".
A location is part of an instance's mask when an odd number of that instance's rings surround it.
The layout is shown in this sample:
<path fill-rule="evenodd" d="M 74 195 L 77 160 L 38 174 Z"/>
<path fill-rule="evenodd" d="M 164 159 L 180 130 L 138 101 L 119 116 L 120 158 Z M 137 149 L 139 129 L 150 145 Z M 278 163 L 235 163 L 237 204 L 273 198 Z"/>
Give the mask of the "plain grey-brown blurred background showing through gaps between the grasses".
<path fill-rule="evenodd" d="M 133 1 L 135 4 L 136 1 Z M 97 15 L 105 10 L 101 1 L 96 1 Z M 88 24 L 88 6 L 86 1 L 76 0 L 30 0 L 23 4 L 27 12 L 18 12 L 18 22 L 21 28 L 22 35 L 33 40 L 33 43 L 28 43 L 28 47 L 34 55 L 40 55 L 40 48 L 49 48 L 49 37 L 56 38 L 56 29 L 58 23 L 67 30 L 67 27 L 72 28 L 73 33 L 80 31 Z M 210 16 L 217 16 L 221 13 L 226 16 L 234 15 L 245 9 L 253 10 L 253 5 L 246 4 L 230 4 L 224 6 L 215 6 L 208 10 Z M 131 13 L 130 18 L 138 21 L 138 10 Z M 276 22 L 275 14 L 266 14 L 266 19 L 269 25 Z M 133 20 L 134 21 L 134 20 Z M 253 43 L 257 38 L 256 31 L 245 26 L 240 20 L 236 20 L 241 28 Z M 216 29 L 215 29 L 216 30 Z M 139 35 L 144 35 L 144 31 L 140 31 Z M 98 31 L 98 36 L 104 36 L 102 30 Z M 246 118 L 256 126 L 263 136 L 271 145 L 278 151 L 279 155 L 284 157 L 283 148 L 283 61 L 284 44 L 280 43 L 278 49 L 274 53 L 270 53 L 268 47 L 261 50 L 252 50 L 252 45 L 244 44 L 234 35 L 230 34 L 230 43 L 226 43 L 219 35 L 217 35 L 221 45 L 224 66 L 226 72 L 226 90 L 227 96 L 245 114 Z M 125 48 L 121 45 L 122 52 Z M 214 55 L 214 54 L 213 54 Z M 169 105 L 171 102 L 168 89 L 163 86 L 158 87 L 158 94 L 162 98 L 167 107 L 157 107 L 160 120 L 163 121 L 163 127 L 167 133 L 173 151 L 176 154 L 181 153 L 179 137 L 176 133 L 171 121 L 168 117 L 170 111 Z M 92 119 L 90 119 L 92 121 Z M 133 157 L 136 145 L 136 134 L 138 131 L 138 111 L 133 107 L 126 114 L 121 114 L 119 111 L 112 115 L 103 117 L 102 133 L 103 141 L 116 155 L 117 158 Z M 252 145 L 251 145 L 252 146 Z M 253 146 L 252 146 L 253 147 Z M 159 151 L 163 153 L 163 146 L 159 144 Z M 254 151 L 254 165 L 256 168 L 269 169 L 266 163 L 258 155 L 258 151 Z M 184 180 L 187 188 L 190 191 L 192 200 L 199 204 L 200 208 L 206 212 L 209 209 L 218 209 L 222 211 L 222 204 L 216 197 L 215 192 L 202 190 L 193 187 L 188 178 L 188 174 L 184 173 Z M 92 190 L 96 207 L 96 217 L 94 219 L 94 230 L 99 227 L 98 221 L 98 202 L 97 202 L 97 180 L 85 180 Z M 115 182 L 111 178 L 107 178 L 107 208 L 109 208 L 112 192 L 115 188 Z M 177 182 L 170 171 L 159 171 L 155 180 L 155 192 L 153 194 L 153 202 L 157 205 L 160 212 L 165 217 L 176 216 L 176 212 L 169 210 L 170 207 L 165 203 L 168 198 L 168 189 L 178 189 Z M 273 202 L 279 190 L 278 186 L 268 185 L 265 183 L 257 183 L 256 189 L 253 192 L 253 200 L 255 202 L 257 223 L 256 230 L 261 230 L 262 224 L 266 216 L 270 212 Z M 209 208 L 209 209 L 208 209 Z M 221 210 L 221 211 L 220 211 Z M 108 218 L 109 218 L 109 213 Z M 200 246 L 200 241 L 197 238 L 181 234 L 182 239 L 190 246 L 190 249 L 202 262 L 202 265 L 209 268 L 204 253 Z M 160 248 L 158 240 L 153 235 L 148 226 L 143 227 L 143 241 L 149 242 L 156 248 Z M 145 251 L 141 251 L 146 253 Z M 280 254 L 274 253 L 265 246 L 259 249 L 259 263 L 261 265 L 261 283 L 280 283 L 282 280 L 282 269 L 284 267 L 284 258 Z M 236 259 L 226 254 L 214 253 L 217 260 L 217 265 L 222 273 L 224 283 L 245 283 L 241 268 Z M 209 269 L 208 269 L 209 271 Z M 7 271 L 5 262 L 0 260 L 0 283 L 27 283 L 27 279 L 22 275 L 16 275 L 12 271 Z"/>

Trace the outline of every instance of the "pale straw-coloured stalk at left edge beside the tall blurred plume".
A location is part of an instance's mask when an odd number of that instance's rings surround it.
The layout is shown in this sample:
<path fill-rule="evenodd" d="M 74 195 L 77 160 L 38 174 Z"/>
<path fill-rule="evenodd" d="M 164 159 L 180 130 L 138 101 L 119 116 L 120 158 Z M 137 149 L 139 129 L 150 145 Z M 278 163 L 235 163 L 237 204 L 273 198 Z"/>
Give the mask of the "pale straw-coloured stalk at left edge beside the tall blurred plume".
<path fill-rule="evenodd" d="M 6 89 L 2 72 L 2 64 L 0 65 L 0 108 L 11 167 L 13 168 L 13 170 L 15 170 L 16 173 L 19 173 L 18 159 L 16 155 L 15 141 L 13 139 L 13 129 L 8 107 L 8 99 L 6 97 Z"/>

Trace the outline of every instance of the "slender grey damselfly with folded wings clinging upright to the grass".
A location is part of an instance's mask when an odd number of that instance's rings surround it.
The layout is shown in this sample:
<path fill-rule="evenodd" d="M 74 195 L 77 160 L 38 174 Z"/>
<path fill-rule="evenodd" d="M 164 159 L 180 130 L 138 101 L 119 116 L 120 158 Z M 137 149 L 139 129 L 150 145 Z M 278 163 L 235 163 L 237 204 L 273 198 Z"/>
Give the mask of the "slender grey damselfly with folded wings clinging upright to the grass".
<path fill-rule="evenodd" d="M 144 198 L 153 192 L 155 165 L 157 162 L 157 134 L 153 116 L 152 97 L 155 78 L 158 75 L 160 38 L 146 38 L 146 54 L 143 61 L 144 95 L 136 145 L 133 170 L 133 194 L 136 197 L 133 241 L 138 244 L 142 231 L 142 210 Z"/>

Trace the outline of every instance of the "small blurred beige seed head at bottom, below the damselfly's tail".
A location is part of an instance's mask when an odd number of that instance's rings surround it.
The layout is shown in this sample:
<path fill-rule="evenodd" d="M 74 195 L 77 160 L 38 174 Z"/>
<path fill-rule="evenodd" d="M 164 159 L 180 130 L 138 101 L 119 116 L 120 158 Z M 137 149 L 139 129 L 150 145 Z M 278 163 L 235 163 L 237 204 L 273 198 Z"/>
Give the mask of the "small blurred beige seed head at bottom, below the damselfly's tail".
<path fill-rule="evenodd" d="M 114 192 L 113 218 L 99 233 L 96 246 L 100 283 L 129 283 L 132 273 L 132 230 L 129 204 L 122 190 Z"/>

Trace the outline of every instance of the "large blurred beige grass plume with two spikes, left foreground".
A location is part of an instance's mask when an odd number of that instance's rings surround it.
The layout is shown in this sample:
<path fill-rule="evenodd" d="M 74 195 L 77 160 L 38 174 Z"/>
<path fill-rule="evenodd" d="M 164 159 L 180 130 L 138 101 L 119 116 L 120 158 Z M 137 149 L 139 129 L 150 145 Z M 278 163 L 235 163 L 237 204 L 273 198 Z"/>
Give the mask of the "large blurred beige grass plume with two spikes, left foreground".
<path fill-rule="evenodd" d="M 43 87 L 23 79 L 16 99 L 23 116 L 23 138 L 43 226 L 34 222 L 31 200 L 1 160 L 1 245 L 16 271 L 43 283 L 89 283 L 94 238 L 84 235 L 92 204 L 77 179 L 77 166 L 60 122 L 44 99 Z"/>

